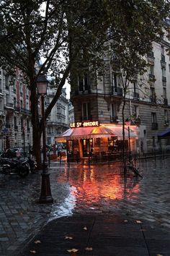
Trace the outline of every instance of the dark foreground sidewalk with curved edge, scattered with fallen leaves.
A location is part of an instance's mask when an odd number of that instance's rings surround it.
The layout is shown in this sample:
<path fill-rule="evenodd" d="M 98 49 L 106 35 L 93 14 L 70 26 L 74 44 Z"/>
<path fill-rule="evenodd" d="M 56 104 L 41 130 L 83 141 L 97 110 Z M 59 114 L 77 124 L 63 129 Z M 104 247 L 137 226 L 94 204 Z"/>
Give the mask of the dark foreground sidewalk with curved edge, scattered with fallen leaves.
<path fill-rule="evenodd" d="M 170 234 L 120 216 L 50 221 L 19 256 L 169 256 Z"/>

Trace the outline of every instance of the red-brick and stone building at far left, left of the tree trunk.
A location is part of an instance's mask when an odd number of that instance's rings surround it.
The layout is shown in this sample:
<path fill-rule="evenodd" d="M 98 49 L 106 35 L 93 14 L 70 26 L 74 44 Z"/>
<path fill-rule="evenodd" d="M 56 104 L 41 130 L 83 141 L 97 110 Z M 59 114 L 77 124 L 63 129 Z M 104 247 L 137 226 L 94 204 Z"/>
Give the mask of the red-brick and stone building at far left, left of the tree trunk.
<path fill-rule="evenodd" d="M 30 91 L 19 69 L 15 79 L 0 71 L 0 150 L 27 150 L 32 145 Z"/>

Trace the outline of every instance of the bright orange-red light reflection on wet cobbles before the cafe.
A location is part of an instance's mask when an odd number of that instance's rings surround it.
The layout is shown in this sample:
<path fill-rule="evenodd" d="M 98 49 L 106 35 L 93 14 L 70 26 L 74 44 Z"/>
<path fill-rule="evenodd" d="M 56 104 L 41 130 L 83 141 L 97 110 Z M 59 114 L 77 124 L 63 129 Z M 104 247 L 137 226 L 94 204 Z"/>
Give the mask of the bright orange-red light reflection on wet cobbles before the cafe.
<path fill-rule="evenodd" d="M 99 203 L 101 200 L 134 200 L 138 198 L 140 187 L 133 177 L 124 179 L 115 171 L 98 171 L 95 168 L 84 170 L 67 170 L 58 178 L 58 182 L 71 185 L 71 195 L 77 202 L 84 200 Z"/>

